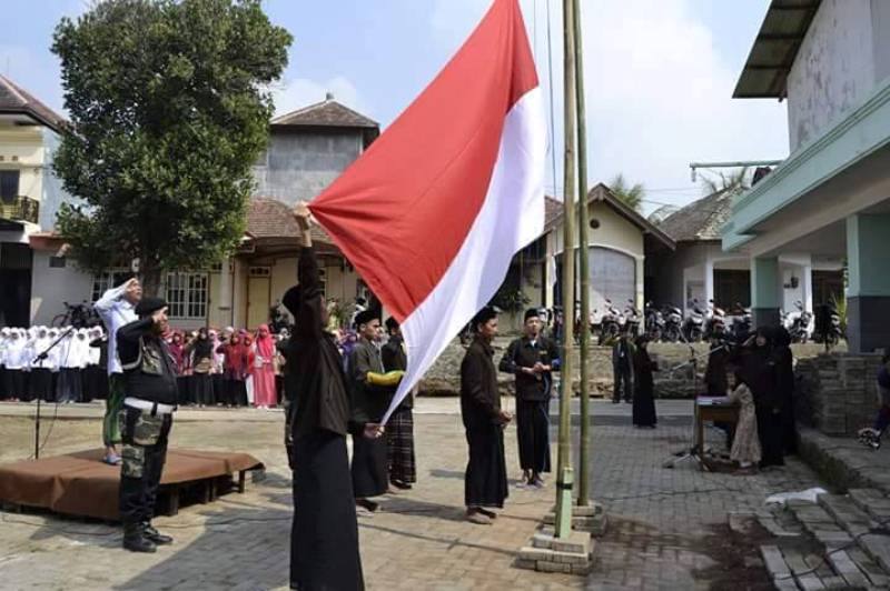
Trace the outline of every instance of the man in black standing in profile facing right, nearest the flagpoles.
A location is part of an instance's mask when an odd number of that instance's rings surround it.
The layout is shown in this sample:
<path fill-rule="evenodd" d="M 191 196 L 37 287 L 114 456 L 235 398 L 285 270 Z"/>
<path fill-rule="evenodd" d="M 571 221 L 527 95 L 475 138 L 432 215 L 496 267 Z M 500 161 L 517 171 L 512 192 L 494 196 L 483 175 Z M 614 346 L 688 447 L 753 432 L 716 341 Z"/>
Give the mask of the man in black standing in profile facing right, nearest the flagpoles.
<path fill-rule="evenodd" d="M 461 363 L 461 417 L 469 447 L 464 477 L 466 517 L 487 525 L 507 498 L 504 427 L 513 415 L 501 409 L 492 340 L 497 334 L 497 309 L 483 308 L 473 319 L 475 337 Z"/>

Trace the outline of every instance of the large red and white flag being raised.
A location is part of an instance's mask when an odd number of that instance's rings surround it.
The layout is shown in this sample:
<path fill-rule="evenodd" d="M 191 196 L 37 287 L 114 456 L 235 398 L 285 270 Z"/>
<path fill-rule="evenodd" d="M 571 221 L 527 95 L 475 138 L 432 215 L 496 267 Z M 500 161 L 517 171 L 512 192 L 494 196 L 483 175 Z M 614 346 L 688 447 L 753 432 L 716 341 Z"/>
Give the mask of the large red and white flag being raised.
<path fill-rule="evenodd" d="M 546 123 L 517 0 L 309 208 L 399 321 L 408 368 L 389 411 L 544 231 Z"/>

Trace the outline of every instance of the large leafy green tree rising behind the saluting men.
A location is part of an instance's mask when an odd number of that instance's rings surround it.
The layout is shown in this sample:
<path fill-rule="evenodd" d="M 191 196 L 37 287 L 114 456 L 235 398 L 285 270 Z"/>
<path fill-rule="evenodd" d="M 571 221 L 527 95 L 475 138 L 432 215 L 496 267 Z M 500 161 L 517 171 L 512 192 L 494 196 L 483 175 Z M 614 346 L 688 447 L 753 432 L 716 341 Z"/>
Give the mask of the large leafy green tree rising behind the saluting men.
<path fill-rule="evenodd" d="M 259 0 L 106 0 L 61 20 L 53 167 L 80 202 L 58 228 L 80 267 L 138 260 L 157 293 L 165 270 L 235 251 L 290 42 Z"/>

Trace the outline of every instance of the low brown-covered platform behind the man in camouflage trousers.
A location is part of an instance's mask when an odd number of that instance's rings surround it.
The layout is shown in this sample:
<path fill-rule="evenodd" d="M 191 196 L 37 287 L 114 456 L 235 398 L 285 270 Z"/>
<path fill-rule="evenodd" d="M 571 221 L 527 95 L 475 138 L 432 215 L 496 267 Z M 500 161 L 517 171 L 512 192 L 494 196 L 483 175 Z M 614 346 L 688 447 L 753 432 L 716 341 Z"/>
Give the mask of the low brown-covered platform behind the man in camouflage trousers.
<path fill-rule="evenodd" d="M 0 503 L 57 513 L 119 520 L 120 467 L 101 462 L 103 450 L 0 465 Z M 247 453 L 171 449 L 167 452 L 158 513 L 172 515 L 180 503 L 211 502 L 229 489 L 244 492 L 246 472 L 263 469 Z"/>

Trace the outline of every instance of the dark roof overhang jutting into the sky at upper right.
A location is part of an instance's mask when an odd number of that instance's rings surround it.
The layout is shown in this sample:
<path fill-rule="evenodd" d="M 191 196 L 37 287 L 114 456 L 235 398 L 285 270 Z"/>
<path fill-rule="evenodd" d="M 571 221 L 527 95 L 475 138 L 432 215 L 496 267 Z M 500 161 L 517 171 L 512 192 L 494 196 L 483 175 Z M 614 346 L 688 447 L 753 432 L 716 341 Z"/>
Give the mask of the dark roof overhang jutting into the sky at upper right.
<path fill-rule="evenodd" d="M 821 0 L 772 0 L 748 56 L 733 97 L 782 99 L 788 73 L 798 57 Z"/>

